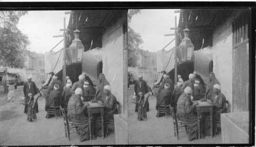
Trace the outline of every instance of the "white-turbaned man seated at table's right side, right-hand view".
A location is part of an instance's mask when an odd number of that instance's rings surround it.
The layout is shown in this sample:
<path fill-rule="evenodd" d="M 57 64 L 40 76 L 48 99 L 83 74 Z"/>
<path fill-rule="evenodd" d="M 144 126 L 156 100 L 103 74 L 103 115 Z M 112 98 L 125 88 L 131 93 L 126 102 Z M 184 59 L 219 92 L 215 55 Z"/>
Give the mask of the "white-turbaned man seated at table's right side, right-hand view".
<path fill-rule="evenodd" d="M 213 133 L 216 135 L 217 123 L 221 121 L 221 113 L 226 113 L 226 97 L 221 93 L 221 86 L 214 85 L 214 112 L 213 112 Z"/>

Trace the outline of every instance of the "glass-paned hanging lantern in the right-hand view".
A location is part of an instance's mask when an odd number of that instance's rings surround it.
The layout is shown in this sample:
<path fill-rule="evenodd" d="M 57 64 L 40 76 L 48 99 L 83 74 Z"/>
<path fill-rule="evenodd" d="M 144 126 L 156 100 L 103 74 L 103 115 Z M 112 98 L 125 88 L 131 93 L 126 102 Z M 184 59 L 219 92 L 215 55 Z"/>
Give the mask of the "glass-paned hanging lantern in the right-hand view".
<path fill-rule="evenodd" d="M 179 62 L 193 62 L 193 51 L 194 51 L 194 45 L 191 42 L 191 40 L 188 38 L 188 35 L 190 31 L 188 28 L 185 28 L 183 30 L 184 38 L 182 39 L 179 48 L 176 49 L 177 56 L 179 59 Z"/>

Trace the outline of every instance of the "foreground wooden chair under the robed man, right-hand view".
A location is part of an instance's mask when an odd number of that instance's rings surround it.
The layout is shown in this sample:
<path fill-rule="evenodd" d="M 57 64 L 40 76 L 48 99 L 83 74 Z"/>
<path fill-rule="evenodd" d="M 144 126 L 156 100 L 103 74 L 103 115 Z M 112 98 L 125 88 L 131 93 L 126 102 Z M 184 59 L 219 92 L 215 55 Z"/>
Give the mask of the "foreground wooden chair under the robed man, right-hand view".
<path fill-rule="evenodd" d="M 173 115 L 173 123 L 174 123 L 174 136 L 177 136 L 177 139 L 179 140 L 179 133 L 181 132 L 188 132 L 186 129 L 185 124 L 183 124 L 181 121 L 177 120 L 176 112 L 174 112 L 174 108 L 169 105 L 170 112 Z"/>

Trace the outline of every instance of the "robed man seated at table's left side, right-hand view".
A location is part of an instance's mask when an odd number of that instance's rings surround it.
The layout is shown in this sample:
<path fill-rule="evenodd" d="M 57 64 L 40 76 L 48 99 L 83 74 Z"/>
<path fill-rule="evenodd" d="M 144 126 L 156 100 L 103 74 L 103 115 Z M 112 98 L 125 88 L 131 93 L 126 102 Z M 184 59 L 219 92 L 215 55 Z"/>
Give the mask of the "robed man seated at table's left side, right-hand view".
<path fill-rule="evenodd" d="M 187 126 L 189 141 L 198 138 L 198 118 L 196 113 L 198 102 L 192 103 L 191 95 L 192 89 L 187 86 L 177 102 L 177 119 Z M 202 136 L 202 138 L 204 137 Z"/>

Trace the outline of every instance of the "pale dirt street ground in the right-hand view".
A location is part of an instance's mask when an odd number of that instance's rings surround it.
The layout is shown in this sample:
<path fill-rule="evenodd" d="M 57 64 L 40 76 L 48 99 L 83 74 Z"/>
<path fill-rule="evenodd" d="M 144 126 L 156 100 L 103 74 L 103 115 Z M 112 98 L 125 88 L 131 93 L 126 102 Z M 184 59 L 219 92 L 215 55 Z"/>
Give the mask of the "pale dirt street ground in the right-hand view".
<path fill-rule="evenodd" d="M 153 83 L 149 84 L 153 87 Z M 206 136 L 205 139 L 195 139 L 188 141 L 187 134 L 179 134 L 179 140 L 174 136 L 173 118 L 170 115 L 156 117 L 156 97 L 149 98 L 150 111 L 147 112 L 147 119 L 137 120 L 135 112 L 135 103 L 132 100 L 134 94 L 134 85 L 130 85 L 128 90 L 128 129 L 129 144 L 219 144 L 221 143 L 221 133 L 211 138 Z"/>

